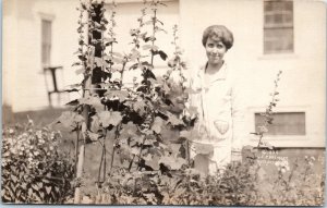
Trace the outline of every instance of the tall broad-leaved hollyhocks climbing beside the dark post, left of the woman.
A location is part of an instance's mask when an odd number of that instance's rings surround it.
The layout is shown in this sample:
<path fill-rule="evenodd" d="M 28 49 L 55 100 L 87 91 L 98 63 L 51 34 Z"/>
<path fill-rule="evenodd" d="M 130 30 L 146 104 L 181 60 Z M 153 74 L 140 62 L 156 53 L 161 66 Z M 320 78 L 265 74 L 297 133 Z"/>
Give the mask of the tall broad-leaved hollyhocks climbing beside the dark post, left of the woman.
<path fill-rule="evenodd" d="M 183 114 L 187 94 L 183 85 L 186 79 L 181 71 L 185 69 L 181 51 L 175 50 L 173 66 L 169 65 L 171 71 L 166 75 L 157 77 L 153 72 L 156 56 L 162 60 L 168 59 L 167 53 L 156 45 L 156 34 L 165 32 L 161 28 L 164 23 L 157 16 L 157 10 L 162 5 L 165 4 L 160 1 L 144 2 L 142 15 L 137 20 L 138 27 L 130 33 L 133 48 L 129 53 L 113 50 L 114 3 L 110 8 L 109 21 L 104 15 L 104 1 L 81 1 L 77 9 L 81 12 L 77 29 L 80 48 L 76 52 L 80 62 L 75 62 L 73 66 L 84 68 L 83 90 L 92 95 L 84 94 L 82 98 L 70 102 L 71 106 L 75 105 L 74 112 L 64 112 L 57 122 L 72 132 L 77 131 L 77 136 L 82 133 L 84 144 L 89 140 L 101 143 L 100 138 L 107 139 L 107 132 L 114 132 L 114 138 L 110 138 L 113 140 L 113 149 L 109 174 L 114 171 L 113 160 L 122 161 L 121 167 L 129 172 L 157 170 L 164 173 L 187 163 L 172 152 L 172 145 L 161 134 L 162 125 L 171 129 L 191 126 Z M 147 13 L 148 9 L 150 14 Z M 83 22 L 85 13 L 89 14 L 88 22 Z M 85 25 L 89 28 L 89 41 L 85 39 Z M 107 29 L 109 36 L 106 37 L 104 34 Z M 177 48 L 177 26 L 173 29 L 173 45 Z M 101 35 L 98 36 L 98 33 Z M 144 51 L 148 51 L 149 60 L 145 60 L 148 56 L 143 56 Z M 130 65 L 130 70 L 142 72 L 142 79 L 134 82 L 132 87 L 125 87 L 123 83 L 126 65 Z M 120 78 L 111 79 L 114 71 L 120 73 Z M 170 78 L 173 71 L 180 77 L 178 82 Z M 107 75 L 98 78 L 98 74 Z M 87 85 L 90 76 L 93 85 Z M 95 89 L 97 86 L 100 88 Z"/>

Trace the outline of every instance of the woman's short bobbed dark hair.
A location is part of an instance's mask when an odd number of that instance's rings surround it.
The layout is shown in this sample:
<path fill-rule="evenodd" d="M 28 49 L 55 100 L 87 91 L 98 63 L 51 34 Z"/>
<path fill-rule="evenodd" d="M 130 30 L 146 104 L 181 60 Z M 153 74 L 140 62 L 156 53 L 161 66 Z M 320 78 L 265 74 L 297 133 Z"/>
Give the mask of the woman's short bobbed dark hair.
<path fill-rule="evenodd" d="M 221 41 L 227 49 L 233 46 L 233 34 L 223 25 L 211 25 L 203 32 L 202 44 L 205 47 L 208 38 Z"/>

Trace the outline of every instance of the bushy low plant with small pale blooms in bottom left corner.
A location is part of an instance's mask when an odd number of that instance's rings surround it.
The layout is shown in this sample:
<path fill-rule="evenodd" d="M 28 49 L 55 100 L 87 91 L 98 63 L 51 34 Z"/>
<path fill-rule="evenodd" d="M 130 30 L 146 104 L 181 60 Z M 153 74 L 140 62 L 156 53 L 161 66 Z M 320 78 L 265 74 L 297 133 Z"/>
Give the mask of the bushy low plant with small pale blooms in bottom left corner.
<path fill-rule="evenodd" d="M 63 203 L 72 195 L 73 163 L 59 149 L 61 134 L 28 124 L 2 132 L 3 203 Z"/>

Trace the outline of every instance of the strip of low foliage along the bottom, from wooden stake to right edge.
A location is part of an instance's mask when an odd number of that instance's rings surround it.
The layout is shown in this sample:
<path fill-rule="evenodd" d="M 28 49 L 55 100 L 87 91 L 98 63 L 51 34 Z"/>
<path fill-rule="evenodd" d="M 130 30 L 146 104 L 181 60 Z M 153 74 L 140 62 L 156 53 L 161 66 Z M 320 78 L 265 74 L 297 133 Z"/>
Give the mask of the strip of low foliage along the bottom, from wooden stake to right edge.
<path fill-rule="evenodd" d="M 312 159 L 305 160 L 304 167 L 287 171 L 282 171 L 283 166 L 276 164 L 276 174 L 266 178 L 255 159 L 231 163 L 223 172 L 208 176 L 187 167 L 171 174 L 116 169 L 111 179 L 104 183 L 102 192 L 90 196 L 87 204 L 320 206 L 324 174 L 318 175 L 320 178 L 313 174 Z"/>

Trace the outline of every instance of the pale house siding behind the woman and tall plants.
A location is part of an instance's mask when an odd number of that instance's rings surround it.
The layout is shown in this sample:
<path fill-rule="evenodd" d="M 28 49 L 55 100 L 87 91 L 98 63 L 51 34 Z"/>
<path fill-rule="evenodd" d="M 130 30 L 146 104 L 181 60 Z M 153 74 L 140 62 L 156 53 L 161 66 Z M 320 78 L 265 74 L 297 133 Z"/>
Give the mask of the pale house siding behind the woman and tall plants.
<path fill-rule="evenodd" d="M 325 147 L 326 107 L 326 5 L 323 1 L 293 1 L 294 52 L 264 54 L 264 2 L 259 0 L 175 0 L 165 1 L 159 10 L 167 35 L 159 37 L 162 50 L 172 53 L 171 27 L 179 24 L 180 41 L 192 76 L 205 60 L 201 39 L 205 27 L 222 24 L 234 35 L 234 46 L 226 54 L 230 69 L 242 76 L 249 100 L 247 129 L 254 129 L 254 113 L 269 102 L 274 79 L 282 70 L 278 86 L 277 112 L 305 112 L 305 136 L 267 137 L 277 146 Z M 136 26 L 142 1 L 118 1 L 117 47 L 126 51 L 129 29 Z M 77 0 L 4 0 L 3 1 L 3 103 L 13 111 L 37 110 L 48 106 L 45 77 L 40 65 L 40 20 L 52 20 L 51 64 L 63 66 L 63 84 L 75 84 L 71 64 L 76 60 Z M 136 10 L 136 11 L 135 11 Z M 135 12 L 134 12 L 135 11 Z M 134 24 L 135 23 L 135 24 Z M 120 35 L 123 34 L 123 35 Z M 159 73 L 166 69 L 158 62 Z M 60 75 L 61 76 L 61 75 Z M 78 95 L 71 95 L 70 99 Z M 62 100 L 62 103 L 65 100 Z M 62 105 L 60 103 L 60 105 Z M 251 143 L 257 139 L 251 137 Z"/>

